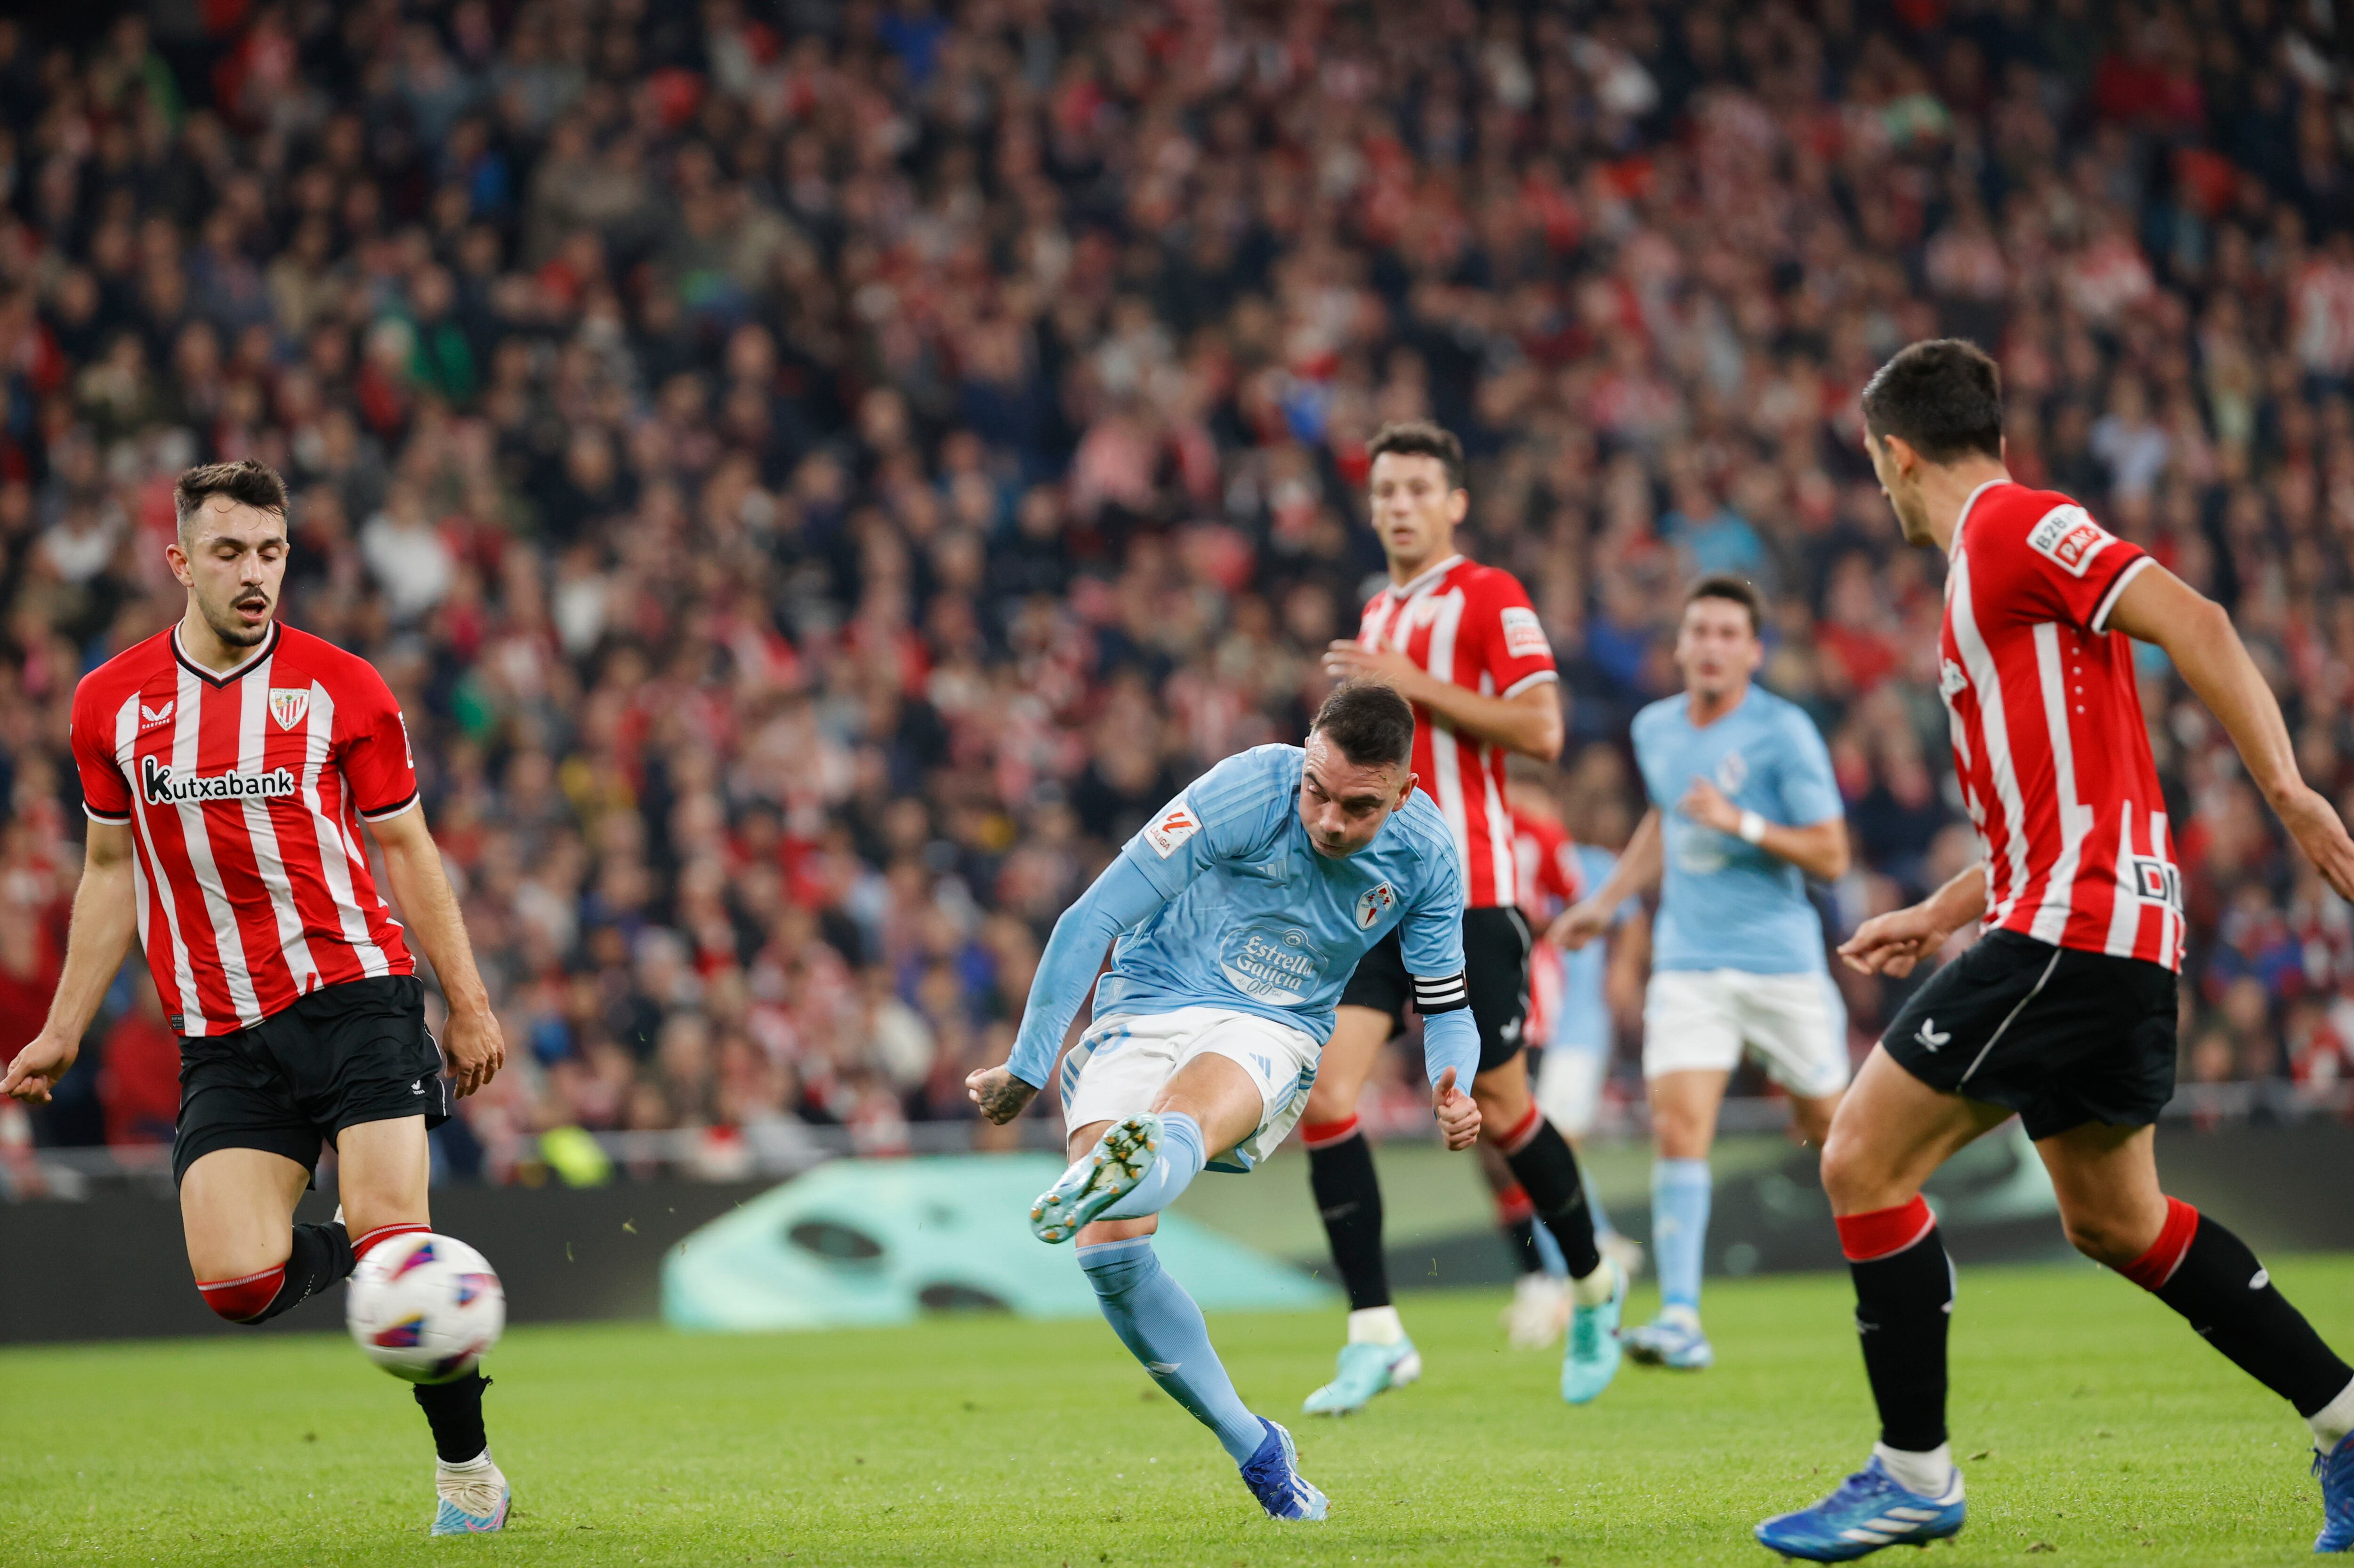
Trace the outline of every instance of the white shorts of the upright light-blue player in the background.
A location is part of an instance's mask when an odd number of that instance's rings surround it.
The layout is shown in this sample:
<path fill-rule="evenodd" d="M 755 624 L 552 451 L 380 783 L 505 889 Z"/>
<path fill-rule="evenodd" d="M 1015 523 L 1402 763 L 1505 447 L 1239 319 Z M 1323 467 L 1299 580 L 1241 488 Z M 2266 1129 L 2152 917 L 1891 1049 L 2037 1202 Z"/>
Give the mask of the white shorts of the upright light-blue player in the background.
<path fill-rule="evenodd" d="M 1669 969 L 1643 992 L 1643 1077 L 1733 1072 L 1742 1048 L 1794 1095 L 1848 1086 L 1848 1006 L 1831 976 Z"/>

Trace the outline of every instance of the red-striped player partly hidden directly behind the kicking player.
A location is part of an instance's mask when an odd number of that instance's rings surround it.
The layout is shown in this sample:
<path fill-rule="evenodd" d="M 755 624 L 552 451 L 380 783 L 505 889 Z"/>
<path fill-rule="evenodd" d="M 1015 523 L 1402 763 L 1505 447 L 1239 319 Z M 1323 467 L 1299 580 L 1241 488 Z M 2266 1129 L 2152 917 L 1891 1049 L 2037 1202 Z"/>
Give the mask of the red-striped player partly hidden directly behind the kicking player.
<path fill-rule="evenodd" d="M 1403 423 L 1384 425 L 1368 451 L 1372 527 L 1389 557 L 1389 588 L 1365 604 L 1356 639 L 1325 651 L 1325 670 L 1387 682 L 1415 705 L 1415 776 L 1438 806 L 1462 865 L 1464 973 L 1481 1037 L 1471 1095 L 1511 1180 L 1568 1262 L 1575 1312 L 1561 1396 L 1584 1403 L 1617 1375 L 1627 1276 L 1596 1251 L 1577 1157 L 1528 1088 L 1521 1027 L 1530 931 L 1514 907 L 1511 818 L 1504 811 L 1504 755 L 1540 762 L 1561 755 L 1554 649 L 1509 571 L 1455 552 L 1455 529 L 1471 510 L 1462 442 L 1431 423 Z M 1311 1413 L 1358 1410 L 1422 1373 L 1422 1356 L 1391 1305 L 1382 1182 L 1356 1124 L 1375 1053 L 1405 1025 L 1405 976 L 1394 940 L 1356 966 L 1299 1124 L 1332 1262 L 1349 1291 L 1349 1342 L 1332 1382 L 1309 1394 Z M 1509 1190 L 1504 1197 L 1511 1201 Z"/>

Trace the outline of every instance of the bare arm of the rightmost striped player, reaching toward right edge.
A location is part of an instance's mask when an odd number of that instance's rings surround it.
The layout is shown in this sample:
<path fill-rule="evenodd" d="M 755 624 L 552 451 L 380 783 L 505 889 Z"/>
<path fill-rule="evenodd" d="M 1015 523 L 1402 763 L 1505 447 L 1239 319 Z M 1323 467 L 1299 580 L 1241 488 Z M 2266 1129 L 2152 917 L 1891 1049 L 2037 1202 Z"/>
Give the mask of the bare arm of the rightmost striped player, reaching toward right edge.
<path fill-rule="evenodd" d="M 2189 689 L 2232 733 L 2232 745 L 2248 764 L 2248 778 L 2281 813 L 2298 849 L 2340 898 L 2354 898 L 2354 839 L 2347 837 L 2330 802 L 2298 773 L 2298 752 L 2288 741 L 2281 703 L 2248 658 L 2248 646 L 2222 604 L 2149 562 L 2116 595 L 2109 630 L 2166 649 Z"/>

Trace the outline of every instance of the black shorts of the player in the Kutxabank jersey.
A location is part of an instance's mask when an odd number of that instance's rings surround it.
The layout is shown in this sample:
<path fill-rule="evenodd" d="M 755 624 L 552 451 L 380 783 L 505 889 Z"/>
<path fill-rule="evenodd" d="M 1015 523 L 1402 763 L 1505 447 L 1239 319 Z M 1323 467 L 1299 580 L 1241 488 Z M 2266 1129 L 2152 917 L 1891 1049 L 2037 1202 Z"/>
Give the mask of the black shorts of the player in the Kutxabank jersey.
<path fill-rule="evenodd" d="M 327 985 L 235 1034 L 181 1037 L 172 1180 L 214 1150 L 268 1150 L 301 1168 L 360 1121 L 450 1119 L 440 1046 L 417 976 Z"/>

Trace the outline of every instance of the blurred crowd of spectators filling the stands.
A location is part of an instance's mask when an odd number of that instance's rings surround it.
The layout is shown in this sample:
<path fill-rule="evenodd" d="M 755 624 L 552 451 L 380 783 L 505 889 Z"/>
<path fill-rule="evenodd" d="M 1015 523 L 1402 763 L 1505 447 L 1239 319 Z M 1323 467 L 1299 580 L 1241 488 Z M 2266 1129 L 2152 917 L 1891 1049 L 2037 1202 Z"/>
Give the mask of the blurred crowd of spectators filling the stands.
<path fill-rule="evenodd" d="M 2022 480 L 2234 611 L 2354 809 L 2328 0 L 104 9 L 0 16 L 0 1048 L 78 870 L 68 696 L 179 614 L 210 458 L 290 477 L 282 614 L 407 712 L 513 1063 L 445 1157 L 494 1178 L 551 1128 L 967 1114 L 1064 903 L 1302 733 L 1389 418 L 1464 437 L 1591 839 L 1730 569 L 1848 799 L 1827 922 L 1968 860 L 1942 562 L 1855 407 L 1933 334 L 1999 353 Z M 2185 1079 L 2323 1091 L 2354 922 L 2142 670 Z M 1862 1046 L 1897 997 L 1848 990 Z M 134 966 L 0 1138 L 167 1135 L 172 1065 Z"/>

